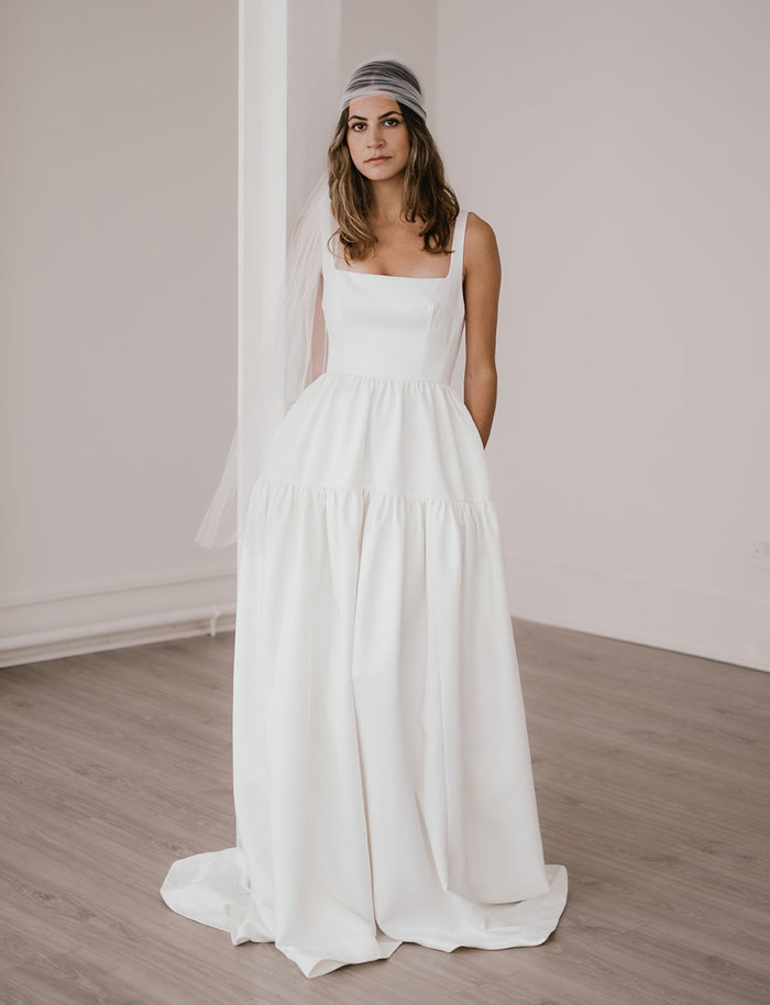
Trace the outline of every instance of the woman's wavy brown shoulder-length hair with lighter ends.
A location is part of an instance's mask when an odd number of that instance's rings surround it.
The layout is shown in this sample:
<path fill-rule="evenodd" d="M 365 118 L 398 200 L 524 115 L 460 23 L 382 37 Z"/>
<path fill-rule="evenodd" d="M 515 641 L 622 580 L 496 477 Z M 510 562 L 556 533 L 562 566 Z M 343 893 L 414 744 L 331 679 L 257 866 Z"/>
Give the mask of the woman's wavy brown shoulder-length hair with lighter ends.
<path fill-rule="evenodd" d="M 394 63 L 403 77 L 417 87 L 417 78 L 405 66 Z M 444 178 L 443 161 L 425 120 L 408 106 L 396 102 L 404 115 L 409 133 L 409 159 L 404 176 L 404 211 L 406 220 L 414 223 L 417 214 L 425 221 L 420 231 L 424 247 L 432 255 L 452 253 L 449 247 L 452 225 L 460 212 L 460 203 Z M 345 262 L 350 265 L 365 258 L 377 243 L 369 221 L 372 207 L 372 183 L 364 177 L 348 148 L 348 109 L 343 109 L 328 150 L 329 197 L 334 219 L 339 224 L 334 234 L 340 235 Z M 333 238 L 334 234 L 331 236 Z M 331 238 L 329 239 L 331 241 Z M 328 246 L 328 243 L 327 243 Z"/>

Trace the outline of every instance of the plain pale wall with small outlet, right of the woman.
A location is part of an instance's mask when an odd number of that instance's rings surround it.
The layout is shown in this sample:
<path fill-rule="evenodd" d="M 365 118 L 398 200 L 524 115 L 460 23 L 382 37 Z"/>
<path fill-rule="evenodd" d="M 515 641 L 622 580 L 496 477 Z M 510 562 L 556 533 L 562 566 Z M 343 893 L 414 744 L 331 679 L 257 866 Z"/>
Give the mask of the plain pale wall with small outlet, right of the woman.
<path fill-rule="evenodd" d="M 438 14 L 443 153 L 503 258 L 513 612 L 770 670 L 770 5 Z"/>

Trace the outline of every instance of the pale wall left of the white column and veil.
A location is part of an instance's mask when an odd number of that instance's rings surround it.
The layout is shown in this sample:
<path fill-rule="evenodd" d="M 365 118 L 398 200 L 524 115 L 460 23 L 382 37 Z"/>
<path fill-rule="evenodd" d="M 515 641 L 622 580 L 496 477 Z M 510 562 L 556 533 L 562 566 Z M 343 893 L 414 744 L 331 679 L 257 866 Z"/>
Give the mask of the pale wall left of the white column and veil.
<path fill-rule="evenodd" d="M 235 421 L 238 4 L 6 0 L 1 18 L 0 644 L 18 661 L 206 623 L 232 597 L 234 549 L 194 537 Z"/>

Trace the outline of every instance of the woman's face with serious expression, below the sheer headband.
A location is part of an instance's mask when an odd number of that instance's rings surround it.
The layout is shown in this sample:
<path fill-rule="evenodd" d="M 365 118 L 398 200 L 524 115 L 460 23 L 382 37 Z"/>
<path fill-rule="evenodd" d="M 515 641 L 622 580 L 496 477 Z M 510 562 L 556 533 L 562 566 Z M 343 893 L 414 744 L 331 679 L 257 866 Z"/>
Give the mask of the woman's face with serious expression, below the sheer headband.
<path fill-rule="evenodd" d="M 395 98 L 354 98 L 348 106 L 346 139 L 353 164 L 372 181 L 394 178 L 406 168 L 409 132 Z"/>

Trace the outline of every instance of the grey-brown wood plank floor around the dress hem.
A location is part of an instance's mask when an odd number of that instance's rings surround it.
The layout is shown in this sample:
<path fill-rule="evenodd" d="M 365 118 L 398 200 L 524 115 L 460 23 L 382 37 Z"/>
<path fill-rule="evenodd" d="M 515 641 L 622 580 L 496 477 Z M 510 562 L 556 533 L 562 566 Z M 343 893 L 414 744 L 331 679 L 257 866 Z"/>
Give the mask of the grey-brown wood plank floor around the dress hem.
<path fill-rule="evenodd" d="M 514 622 L 546 861 L 542 946 L 308 980 L 183 918 L 170 862 L 234 843 L 232 633 L 0 671 L 3 1005 L 770 1002 L 770 675 Z"/>

